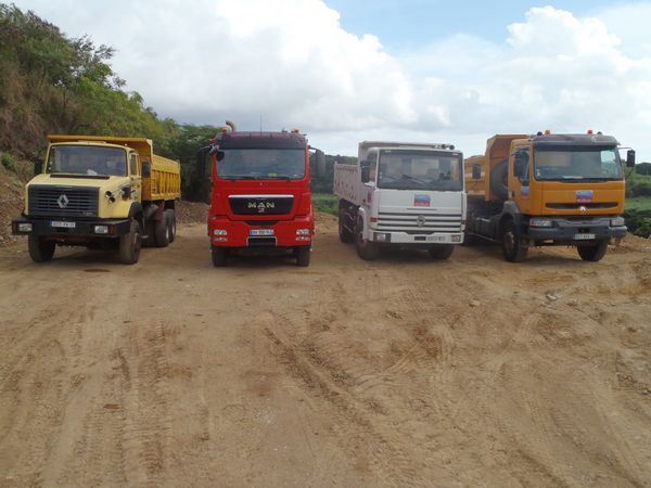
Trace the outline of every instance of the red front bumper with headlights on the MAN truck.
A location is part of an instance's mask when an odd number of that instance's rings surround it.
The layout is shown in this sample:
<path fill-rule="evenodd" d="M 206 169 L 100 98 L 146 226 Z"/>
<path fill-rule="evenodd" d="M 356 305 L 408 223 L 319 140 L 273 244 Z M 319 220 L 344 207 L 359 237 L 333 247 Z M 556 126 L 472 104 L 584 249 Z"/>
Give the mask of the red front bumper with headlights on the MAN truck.
<path fill-rule="evenodd" d="M 208 235 L 210 243 L 219 247 L 311 246 L 314 219 L 304 216 L 292 220 L 256 222 L 212 217 L 208 218 Z"/>

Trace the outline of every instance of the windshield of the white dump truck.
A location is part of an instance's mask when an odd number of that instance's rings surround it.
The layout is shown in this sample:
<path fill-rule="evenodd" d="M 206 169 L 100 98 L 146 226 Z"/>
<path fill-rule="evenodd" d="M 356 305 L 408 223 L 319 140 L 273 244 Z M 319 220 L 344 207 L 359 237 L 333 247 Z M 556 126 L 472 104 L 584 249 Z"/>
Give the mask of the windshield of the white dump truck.
<path fill-rule="evenodd" d="M 378 188 L 394 190 L 463 190 L 461 155 L 433 151 L 382 151 Z M 371 174 L 374 168 L 371 168 Z M 372 178 L 372 175 L 371 175 Z"/>

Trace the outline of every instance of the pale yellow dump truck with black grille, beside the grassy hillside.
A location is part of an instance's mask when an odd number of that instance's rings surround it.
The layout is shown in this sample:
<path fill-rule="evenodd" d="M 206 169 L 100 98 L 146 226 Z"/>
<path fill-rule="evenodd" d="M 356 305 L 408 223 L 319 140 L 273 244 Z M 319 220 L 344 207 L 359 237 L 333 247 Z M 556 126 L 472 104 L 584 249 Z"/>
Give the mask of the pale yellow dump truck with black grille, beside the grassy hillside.
<path fill-rule="evenodd" d="M 43 162 L 25 189 L 14 234 L 28 236 L 29 256 L 49 261 L 56 245 L 116 249 L 138 262 L 141 245 L 175 240 L 180 165 L 154 154 L 142 138 L 49 136 Z"/>

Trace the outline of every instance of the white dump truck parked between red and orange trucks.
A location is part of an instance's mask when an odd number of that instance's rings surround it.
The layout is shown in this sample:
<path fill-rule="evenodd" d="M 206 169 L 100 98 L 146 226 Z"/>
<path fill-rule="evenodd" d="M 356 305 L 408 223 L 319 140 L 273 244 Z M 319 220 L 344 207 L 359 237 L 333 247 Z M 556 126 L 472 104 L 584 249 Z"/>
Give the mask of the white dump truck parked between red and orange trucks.
<path fill-rule="evenodd" d="M 340 240 L 362 259 L 390 245 L 447 259 L 463 242 L 463 155 L 451 144 L 360 142 L 357 164 L 334 165 L 334 193 Z"/>

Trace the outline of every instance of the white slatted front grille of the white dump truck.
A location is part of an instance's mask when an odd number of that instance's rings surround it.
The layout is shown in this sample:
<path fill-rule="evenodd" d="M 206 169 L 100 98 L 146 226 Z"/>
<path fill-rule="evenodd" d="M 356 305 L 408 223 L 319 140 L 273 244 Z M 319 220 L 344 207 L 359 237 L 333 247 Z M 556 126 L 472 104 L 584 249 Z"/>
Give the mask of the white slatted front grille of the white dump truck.
<path fill-rule="evenodd" d="M 461 232 L 461 214 L 392 214 L 380 213 L 378 230 L 431 234 L 433 232 Z"/>

